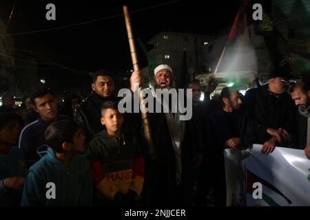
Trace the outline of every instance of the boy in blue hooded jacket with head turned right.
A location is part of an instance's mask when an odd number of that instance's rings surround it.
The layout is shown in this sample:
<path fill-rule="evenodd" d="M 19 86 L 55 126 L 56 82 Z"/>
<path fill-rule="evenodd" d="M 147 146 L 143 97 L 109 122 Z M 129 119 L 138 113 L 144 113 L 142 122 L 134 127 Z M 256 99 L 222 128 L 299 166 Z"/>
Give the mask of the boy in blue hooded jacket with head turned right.
<path fill-rule="evenodd" d="M 90 206 L 92 179 L 90 165 L 81 153 L 85 136 L 71 120 L 53 122 L 45 131 L 48 146 L 28 173 L 21 206 Z"/>

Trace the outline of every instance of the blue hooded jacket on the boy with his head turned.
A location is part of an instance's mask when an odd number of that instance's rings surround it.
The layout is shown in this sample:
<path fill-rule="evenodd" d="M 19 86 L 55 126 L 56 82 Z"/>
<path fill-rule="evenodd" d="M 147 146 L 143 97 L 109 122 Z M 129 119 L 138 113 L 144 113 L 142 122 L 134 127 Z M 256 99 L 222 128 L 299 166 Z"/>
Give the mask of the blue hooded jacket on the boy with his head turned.
<path fill-rule="evenodd" d="M 92 179 L 87 159 L 76 154 L 65 166 L 46 145 L 41 146 L 38 153 L 41 159 L 29 169 L 21 206 L 92 205 Z"/>

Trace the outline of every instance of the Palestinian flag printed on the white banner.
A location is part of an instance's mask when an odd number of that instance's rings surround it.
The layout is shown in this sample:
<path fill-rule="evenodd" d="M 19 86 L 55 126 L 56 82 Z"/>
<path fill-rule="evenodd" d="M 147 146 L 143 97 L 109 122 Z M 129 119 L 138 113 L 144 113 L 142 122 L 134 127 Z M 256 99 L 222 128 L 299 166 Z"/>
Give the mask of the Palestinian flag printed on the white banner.
<path fill-rule="evenodd" d="M 292 203 L 276 186 L 255 175 L 247 168 L 245 170 L 248 206 L 289 206 Z M 253 188 L 253 184 L 256 182 L 262 184 L 262 199 L 254 199 L 253 197 L 253 192 L 256 190 L 256 188 Z"/>

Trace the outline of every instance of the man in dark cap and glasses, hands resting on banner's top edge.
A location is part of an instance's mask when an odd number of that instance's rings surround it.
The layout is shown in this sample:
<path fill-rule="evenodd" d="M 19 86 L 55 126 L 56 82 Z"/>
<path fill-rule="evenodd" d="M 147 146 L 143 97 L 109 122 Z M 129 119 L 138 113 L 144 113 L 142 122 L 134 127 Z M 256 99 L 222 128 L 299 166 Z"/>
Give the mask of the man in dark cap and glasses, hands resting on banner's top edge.
<path fill-rule="evenodd" d="M 295 107 L 287 93 L 287 72 L 275 69 L 269 75 L 269 83 L 245 95 L 247 109 L 256 131 L 262 153 L 272 153 L 278 146 L 292 146 L 295 130 Z"/>

